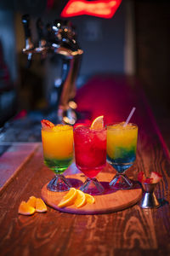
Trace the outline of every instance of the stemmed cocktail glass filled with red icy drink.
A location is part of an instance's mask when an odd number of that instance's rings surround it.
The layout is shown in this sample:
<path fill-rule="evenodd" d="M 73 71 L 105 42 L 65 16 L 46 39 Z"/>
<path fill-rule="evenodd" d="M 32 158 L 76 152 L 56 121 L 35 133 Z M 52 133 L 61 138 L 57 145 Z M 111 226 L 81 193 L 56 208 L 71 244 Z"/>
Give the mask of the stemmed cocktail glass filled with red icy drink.
<path fill-rule="evenodd" d="M 77 126 L 74 129 L 75 159 L 77 168 L 87 179 L 80 188 L 91 195 L 99 195 L 104 188 L 96 175 L 106 163 L 106 130 L 92 130 L 88 126 Z"/>

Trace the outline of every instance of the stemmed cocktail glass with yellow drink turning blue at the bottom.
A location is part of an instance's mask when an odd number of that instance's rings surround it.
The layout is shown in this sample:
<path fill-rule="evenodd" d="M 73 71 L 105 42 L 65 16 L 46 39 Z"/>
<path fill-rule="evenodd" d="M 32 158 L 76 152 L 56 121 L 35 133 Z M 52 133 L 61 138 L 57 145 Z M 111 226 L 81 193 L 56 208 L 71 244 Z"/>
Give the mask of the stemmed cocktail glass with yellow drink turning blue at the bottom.
<path fill-rule="evenodd" d="M 136 159 L 138 126 L 115 123 L 107 125 L 107 161 L 116 169 L 116 176 L 111 180 L 113 189 L 131 189 L 133 182 L 125 172 Z"/>

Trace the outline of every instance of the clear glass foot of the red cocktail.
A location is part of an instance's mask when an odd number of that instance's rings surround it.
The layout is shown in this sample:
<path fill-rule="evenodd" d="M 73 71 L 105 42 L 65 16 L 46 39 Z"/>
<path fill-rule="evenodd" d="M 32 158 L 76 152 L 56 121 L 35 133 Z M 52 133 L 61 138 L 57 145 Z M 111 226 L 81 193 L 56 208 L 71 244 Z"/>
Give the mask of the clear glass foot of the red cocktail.
<path fill-rule="evenodd" d="M 103 186 L 99 183 L 97 178 L 87 178 L 85 183 L 82 184 L 82 187 L 80 188 L 82 192 L 88 193 L 90 195 L 100 195 L 104 192 Z"/>

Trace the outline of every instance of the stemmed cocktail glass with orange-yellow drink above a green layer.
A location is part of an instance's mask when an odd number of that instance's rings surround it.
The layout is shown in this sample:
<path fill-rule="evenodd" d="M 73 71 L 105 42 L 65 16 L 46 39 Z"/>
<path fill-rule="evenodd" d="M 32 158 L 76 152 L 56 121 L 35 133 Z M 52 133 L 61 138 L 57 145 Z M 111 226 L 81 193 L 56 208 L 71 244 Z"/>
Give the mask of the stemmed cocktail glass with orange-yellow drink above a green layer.
<path fill-rule="evenodd" d="M 55 192 L 66 191 L 71 184 L 63 175 L 73 158 L 73 128 L 71 125 L 42 127 L 42 148 L 44 163 L 54 173 L 48 189 Z"/>

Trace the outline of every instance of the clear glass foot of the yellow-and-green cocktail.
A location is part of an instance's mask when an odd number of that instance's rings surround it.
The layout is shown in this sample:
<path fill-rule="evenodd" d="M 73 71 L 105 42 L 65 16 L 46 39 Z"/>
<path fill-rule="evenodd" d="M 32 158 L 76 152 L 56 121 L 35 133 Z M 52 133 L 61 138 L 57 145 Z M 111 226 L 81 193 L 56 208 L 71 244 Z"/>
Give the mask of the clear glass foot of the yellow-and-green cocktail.
<path fill-rule="evenodd" d="M 48 183 L 48 190 L 54 192 L 63 192 L 71 188 L 71 183 L 65 178 L 64 175 L 55 175 L 54 178 Z"/>

